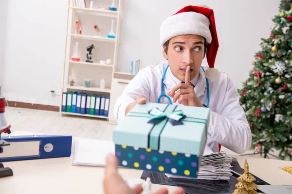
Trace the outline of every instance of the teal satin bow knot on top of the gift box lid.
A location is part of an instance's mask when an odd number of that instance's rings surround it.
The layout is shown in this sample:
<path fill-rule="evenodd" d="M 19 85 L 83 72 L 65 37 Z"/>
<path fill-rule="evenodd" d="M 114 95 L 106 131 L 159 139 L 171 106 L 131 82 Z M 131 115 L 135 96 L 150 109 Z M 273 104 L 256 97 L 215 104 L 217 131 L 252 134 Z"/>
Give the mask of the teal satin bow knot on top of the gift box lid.
<path fill-rule="evenodd" d="M 151 114 L 152 116 L 150 117 L 150 120 L 147 123 L 151 123 L 154 125 L 159 124 L 165 118 L 167 118 L 167 120 L 173 126 L 183 125 L 181 119 L 186 117 L 186 115 L 183 114 L 183 111 L 174 111 L 172 113 L 165 114 L 164 112 L 160 111 L 157 108 L 148 111 L 148 113 Z"/>

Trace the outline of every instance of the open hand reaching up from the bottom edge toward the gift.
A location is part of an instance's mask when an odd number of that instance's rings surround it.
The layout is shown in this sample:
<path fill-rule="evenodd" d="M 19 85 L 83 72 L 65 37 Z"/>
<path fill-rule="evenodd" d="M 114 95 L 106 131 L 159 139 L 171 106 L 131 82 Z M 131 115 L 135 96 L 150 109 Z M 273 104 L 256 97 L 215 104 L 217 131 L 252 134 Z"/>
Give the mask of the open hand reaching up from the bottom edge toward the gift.
<path fill-rule="evenodd" d="M 105 194 L 141 194 L 143 188 L 136 186 L 130 189 L 127 183 L 118 173 L 118 159 L 112 155 L 107 155 L 104 178 L 104 192 Z M 184 190 L 182 187 L 178 187 L 172 194 L 183 194 Z M 167 189 L 162 188 L 153 194 L 168 194 Z"/>

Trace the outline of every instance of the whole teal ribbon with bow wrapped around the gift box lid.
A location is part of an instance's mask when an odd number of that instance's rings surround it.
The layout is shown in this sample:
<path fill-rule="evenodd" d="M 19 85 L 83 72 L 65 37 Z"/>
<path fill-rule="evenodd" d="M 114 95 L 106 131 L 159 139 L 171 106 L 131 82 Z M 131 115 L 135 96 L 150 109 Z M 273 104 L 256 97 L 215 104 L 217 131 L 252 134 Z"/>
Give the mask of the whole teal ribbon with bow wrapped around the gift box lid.
<path fill-rule="evenodd" d="M 160 134 L 164 130 L 167 122 L 169 122 L 172 126 L 183 125 L 183 122 L 202 123 L 205 124 L 205 132 L 207 134 L 206 119 L 187 117 L 183 114 L 183 111 L 175 111 L 176 108 L 176 105 L 167 105 L 164 111 L 161 111 L 158 108 L 154 108 L 148 111 L 148 113 L 130 112 L 127 114 L 127 116 L 150 118 L 147 123 L 153 124 L 153 127 L 148 133 L 147 147 L 153 150 L 159 150 Z"/>

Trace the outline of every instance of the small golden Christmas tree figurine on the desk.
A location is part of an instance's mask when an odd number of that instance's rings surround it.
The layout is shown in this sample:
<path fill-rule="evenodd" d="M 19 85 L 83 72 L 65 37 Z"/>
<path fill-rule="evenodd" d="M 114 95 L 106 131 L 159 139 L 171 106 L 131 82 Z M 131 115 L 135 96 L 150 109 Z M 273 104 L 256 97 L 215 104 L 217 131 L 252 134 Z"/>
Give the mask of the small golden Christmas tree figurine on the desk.
<path fill-rule="evenodd" d="M 235 185 L 237 189 L 234 190 L 233 194 L 257 194 L 257 185 L 253 183 L 256 178 L 249 173 L 246 160 L 244 162 L 244 173 L 237 180 L 238 183 Z"/>

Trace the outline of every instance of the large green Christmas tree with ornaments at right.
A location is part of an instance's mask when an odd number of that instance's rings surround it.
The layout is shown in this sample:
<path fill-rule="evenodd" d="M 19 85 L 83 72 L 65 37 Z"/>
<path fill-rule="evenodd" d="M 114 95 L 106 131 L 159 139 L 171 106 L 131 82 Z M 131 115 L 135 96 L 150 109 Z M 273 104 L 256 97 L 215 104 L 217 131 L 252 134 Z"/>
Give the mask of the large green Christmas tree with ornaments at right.
<path fill-rule="evenodd" d="M 292 3 L 281 0 L 274 28 L 261 38 L 249 78 L 238 90 L 253 133 L 252 147 L 265 158 L 292 160 Z"/>

